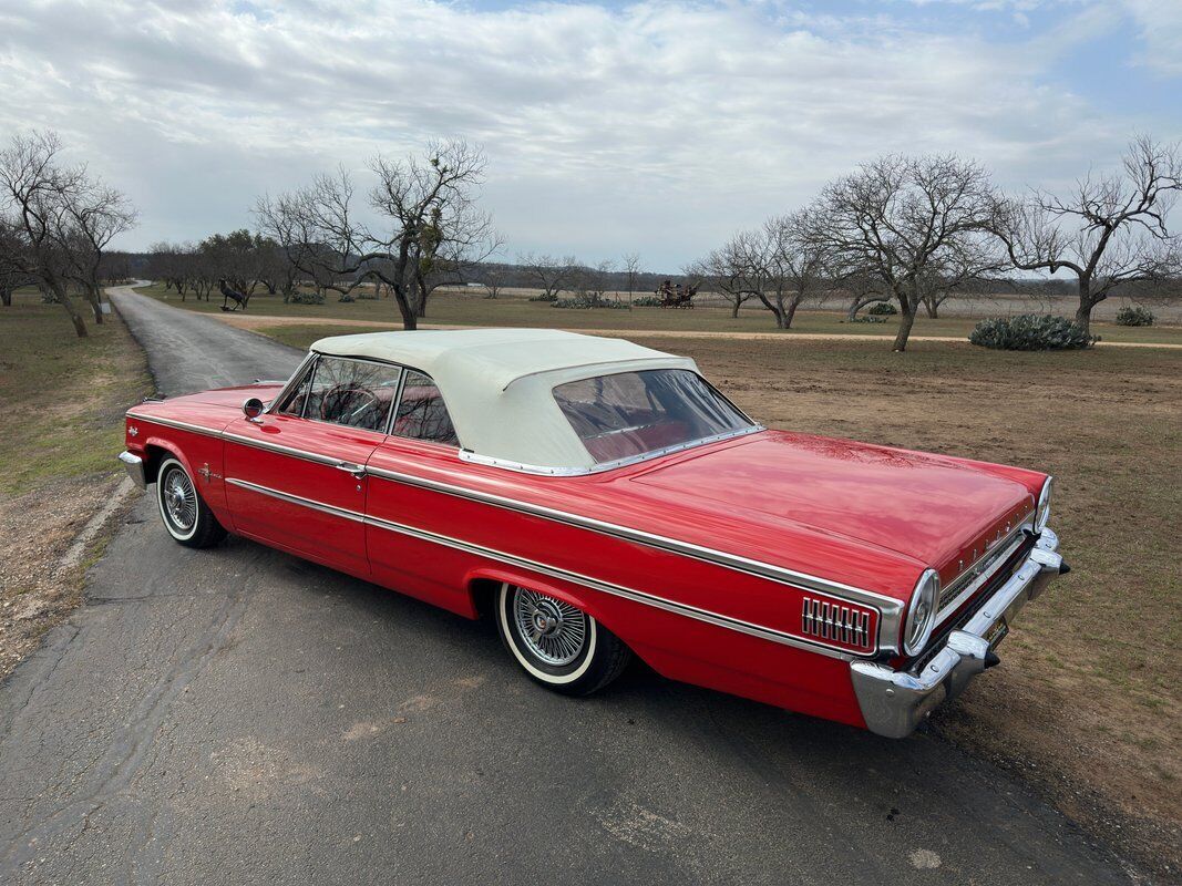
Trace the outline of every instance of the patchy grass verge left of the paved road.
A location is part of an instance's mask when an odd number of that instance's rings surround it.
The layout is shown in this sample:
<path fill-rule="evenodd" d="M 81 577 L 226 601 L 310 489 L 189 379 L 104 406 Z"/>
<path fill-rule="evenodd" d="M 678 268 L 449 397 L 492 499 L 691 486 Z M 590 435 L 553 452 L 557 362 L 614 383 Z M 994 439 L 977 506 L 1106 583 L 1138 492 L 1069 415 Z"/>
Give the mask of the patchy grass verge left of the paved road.
<path fill-rule="evenodd" d="M 0 308 L 0 677 L 80 599 L 99 551 L 58 561 L 123 476 L 123 412 L 151 390 L 126 327 L 106 320 L 79 339 L 33 293 Z"/>

